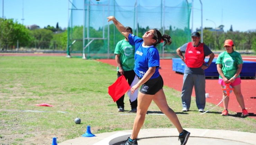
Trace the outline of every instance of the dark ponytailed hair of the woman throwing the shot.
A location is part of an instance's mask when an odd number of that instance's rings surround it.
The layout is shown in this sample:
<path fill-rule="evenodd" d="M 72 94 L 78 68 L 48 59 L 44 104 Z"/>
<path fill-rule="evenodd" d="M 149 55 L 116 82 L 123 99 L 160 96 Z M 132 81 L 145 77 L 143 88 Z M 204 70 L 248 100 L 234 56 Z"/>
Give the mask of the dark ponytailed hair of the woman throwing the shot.
<path fill-rule="evenodd" d="M 161 41 L 165 41 L 164 46 L 165 46 L 166 44 L 171 45 L 171 43 L 172 43 L 172 38 L 171 38 L 170 35 L 164 34 L 164 35 L 162 36 L 161 32 L 160 32 L 158 29 L 155 28 L 155 29 L 153 29 L 153 30 L 154 30 L 154 37 L 153 37 L 153 39 L 156 40 L 156 42 L 153 44 L 154 46 L 157 46 L 159 43 L 161 43 Z"/>

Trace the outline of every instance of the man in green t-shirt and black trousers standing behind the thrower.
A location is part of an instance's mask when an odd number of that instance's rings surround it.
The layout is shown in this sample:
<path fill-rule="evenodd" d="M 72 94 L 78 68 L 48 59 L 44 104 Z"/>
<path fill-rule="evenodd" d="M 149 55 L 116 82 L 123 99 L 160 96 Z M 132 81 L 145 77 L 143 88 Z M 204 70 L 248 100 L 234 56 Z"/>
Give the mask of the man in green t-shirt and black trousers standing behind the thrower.
<path fill-rule="evenodd" d="M 132 29 L 130 27 L 126 27 L 126 30 L 132 33 Z M 135 47 L 129 44 L 128 38 L 125 38 L 119 41 L 114 51 L 114 54 L 116 55 L 115 60 L 117 63 L 117 77 L 124 75 L 125 78 L 128 80 L 129 85 L 131 85 L 135 77 L 134 52 L 135 52 Z M 124 112 L 125 110 L 124 98 L 125 98 L 125 95 L 123 95 L 121 98 L 119 98 L 116 101 L 118 112 Z M 137 99 L 132 102 L 130 100 L 130 105 L 131 105 L 131 112 L 137 112 Z"/>

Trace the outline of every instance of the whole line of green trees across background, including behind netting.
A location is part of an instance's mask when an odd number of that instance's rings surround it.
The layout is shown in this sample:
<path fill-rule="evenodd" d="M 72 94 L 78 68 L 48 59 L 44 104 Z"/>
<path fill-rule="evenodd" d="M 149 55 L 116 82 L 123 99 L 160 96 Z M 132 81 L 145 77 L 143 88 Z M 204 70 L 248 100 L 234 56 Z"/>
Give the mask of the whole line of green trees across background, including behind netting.
<path fill-rule="evenodd" d="M 0 50 L 11 50 L 14 48 L 24 47 L 24 48 L 38 48 L 38 49 L 55 49 L 55 50 L 66 50 L 67 45 L 70 45 L 73 40 L 77 40 L 72 46 L 73 51 L 82 51 L 82 39 L 83 39 L 83 26 L 75 26 L 73 28 L 67 28 L 67 30 L 62 30 L 58 27 L 47 26 L 43 29 L 29 29 L 24 25 L 19 24 L 13 19 L 2 19 L 0 18 Z M 115 49 L 116 43 L 124 39 L 124 37 L 118 32 L 113 24 L 110 25 L 110 50 Z M 138 27 L 138 36 L 142 35 L 149 29 L 149 27 L 141 28 Z M 85 29 L 85 37 L 87 37 L 87 29 Z M 92 38 L 102 38 L 103 30 L 99 28 L 98 30 L 93 27 L 89 28 L 90 37 Z M 107 38 L 107 26 L 104 29 L 104 37 Z M 115 32 L 115 33 L 114 33 Z M 134 33 L 136 30 L 134 30 Z M 173 39 L 171 46 L 166 46 L 165 51 L 173 52 L 178 47 L 182 46 L 185 42 L 191 41 L 190 29 L 177 29 L 170 26 L 165 30 L 165 33 L 170 35 Z M 70 38 L 69 44 L 67 44 L 67 38 Z M 203 41 L 212 50 L 222 50 L 223 43 L 226 39 L 232 39 L 235 44 L 235 49 L 237 50 L 254 50 L 256 52 L 256 31 L 232 31 L 230 29 L 227 32 L 215 32 L 210 31 L 209 28 L 203 30 Z M 89 40 L 86 40 L 85 44 Z M 18 45 L 18 46 L 17 46 Z M 106 51 L 107 40 L 95 40 L 90 45 L 90 49 L 86 51 Z M 158 46 L 158 50 L 161 51 L 161 45 Z"/>

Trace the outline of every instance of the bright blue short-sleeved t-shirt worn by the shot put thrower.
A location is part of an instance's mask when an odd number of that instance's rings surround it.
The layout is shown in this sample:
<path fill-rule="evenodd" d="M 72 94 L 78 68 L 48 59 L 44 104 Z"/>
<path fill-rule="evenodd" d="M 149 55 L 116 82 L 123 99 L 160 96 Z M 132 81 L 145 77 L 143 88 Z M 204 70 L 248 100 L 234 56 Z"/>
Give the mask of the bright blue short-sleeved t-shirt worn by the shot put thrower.
<path fill-rule="evenodd" d="M 135 45 L 135 66 L 134 71 L 136 75 L 140 78 L 144 76 L 146 71 L 149 67 L 156 67 L 155 73 L 150 77 L 150 79 L 157 78 L 159 76 L 159 64 L 160 64 L 160 57 L 158 50 L 156 47 L 147 46 L 143 47 L 143 39 L 133 35 L 129 34 L 128 36 L 130 45 Z"/>

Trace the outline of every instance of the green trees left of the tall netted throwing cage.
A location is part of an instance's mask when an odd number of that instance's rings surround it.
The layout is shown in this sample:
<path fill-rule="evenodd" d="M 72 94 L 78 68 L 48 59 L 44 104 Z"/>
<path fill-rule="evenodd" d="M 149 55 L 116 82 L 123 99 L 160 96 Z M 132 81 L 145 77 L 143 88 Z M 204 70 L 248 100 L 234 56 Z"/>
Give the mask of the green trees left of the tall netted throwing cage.
<path fill-rule="evenodd" d="M 43 29 L 29 29 L 13 19 L 0 18 L 0 50 L 17 47 L 66 50 L 67 31 L 47 26 Z"/>

